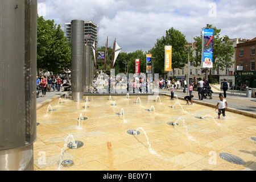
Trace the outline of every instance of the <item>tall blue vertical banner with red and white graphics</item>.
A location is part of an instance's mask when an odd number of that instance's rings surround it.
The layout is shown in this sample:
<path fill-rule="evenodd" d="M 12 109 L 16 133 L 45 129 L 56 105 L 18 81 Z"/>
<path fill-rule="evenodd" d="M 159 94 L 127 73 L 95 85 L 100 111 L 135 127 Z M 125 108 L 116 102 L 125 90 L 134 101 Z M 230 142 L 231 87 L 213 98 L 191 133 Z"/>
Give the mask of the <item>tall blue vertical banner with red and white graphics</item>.
<path fill-rule="evenodd" d="M 203 30 L 203 68 L 213 68 L 213 29 Z"/>

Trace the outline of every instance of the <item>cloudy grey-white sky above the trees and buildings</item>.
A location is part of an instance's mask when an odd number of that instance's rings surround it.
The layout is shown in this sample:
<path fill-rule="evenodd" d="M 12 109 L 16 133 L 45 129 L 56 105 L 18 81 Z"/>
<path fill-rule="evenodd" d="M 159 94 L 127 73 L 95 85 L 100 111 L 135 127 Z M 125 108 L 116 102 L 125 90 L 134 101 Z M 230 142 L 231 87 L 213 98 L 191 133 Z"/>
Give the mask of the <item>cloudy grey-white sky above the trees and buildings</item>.
<path fill-rule="evenodd" d="M 207 24 L 221 29 L 221 36 L 256 37 L 255 0 L 38 0 L 38 14 L 54 19 L 64 31 L 73 19 L 98 25 L 98 46 L 114 39 L 122 52 L 148 51 L 156 39 L 174 27 L 188 42 Z"/>

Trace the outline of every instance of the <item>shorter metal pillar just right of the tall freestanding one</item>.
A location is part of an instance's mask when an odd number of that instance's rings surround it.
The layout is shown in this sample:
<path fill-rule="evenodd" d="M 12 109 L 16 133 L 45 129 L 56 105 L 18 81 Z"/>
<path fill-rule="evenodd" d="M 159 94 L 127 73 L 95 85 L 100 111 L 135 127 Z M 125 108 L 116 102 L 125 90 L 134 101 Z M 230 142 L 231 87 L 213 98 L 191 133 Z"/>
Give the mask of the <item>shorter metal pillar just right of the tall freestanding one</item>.
<path fill-rule="evenodd" d="M 88 89 L 92 85 L 90 81 L 90 62 L 92 62 L 90 60 L 90 46 L 84 46 L 84 89 Z"/>

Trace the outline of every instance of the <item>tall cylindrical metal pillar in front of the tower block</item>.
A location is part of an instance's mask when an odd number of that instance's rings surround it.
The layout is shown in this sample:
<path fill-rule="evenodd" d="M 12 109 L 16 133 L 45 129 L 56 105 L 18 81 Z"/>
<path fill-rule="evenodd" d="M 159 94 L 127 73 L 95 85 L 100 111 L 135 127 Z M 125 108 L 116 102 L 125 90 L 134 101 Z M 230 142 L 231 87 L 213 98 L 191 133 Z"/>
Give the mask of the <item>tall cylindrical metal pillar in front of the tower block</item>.
<path fill-rule="evenodd" d="M 72 45 L 72 100 L 82 101 L 84 96 L 84 21 L 72 20 L 71 22 Z"/>

